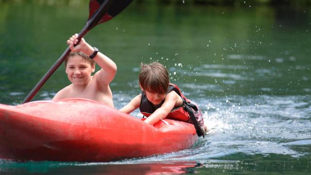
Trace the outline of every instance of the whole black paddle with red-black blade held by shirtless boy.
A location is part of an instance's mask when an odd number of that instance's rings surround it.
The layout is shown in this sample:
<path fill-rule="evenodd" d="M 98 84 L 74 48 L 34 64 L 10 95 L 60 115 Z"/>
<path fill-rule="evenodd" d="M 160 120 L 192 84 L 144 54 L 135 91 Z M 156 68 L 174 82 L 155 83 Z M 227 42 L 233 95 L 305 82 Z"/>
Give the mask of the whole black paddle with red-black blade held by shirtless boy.
<path fill-rule="evenodd" d="M 104 23 L 123 11 L 133 0 L 90 0 L 89 1 L 89 17 L 86 21 L 86 25 L 81 30 L 78 36 L 78 40 L 86 35 L 97 24 Z M 55 70 L 63 63 L 65 58 L 69 55 L 70 48 L 68 47 L 61 57 L 54 63 L 54 65 L 46 72 L 41 80 L 35 85 L 35 87 L 29 92 L 27 97 L 23 100 L 23 103 L 30 102 L 44 83 L 52 76 Z"/>

